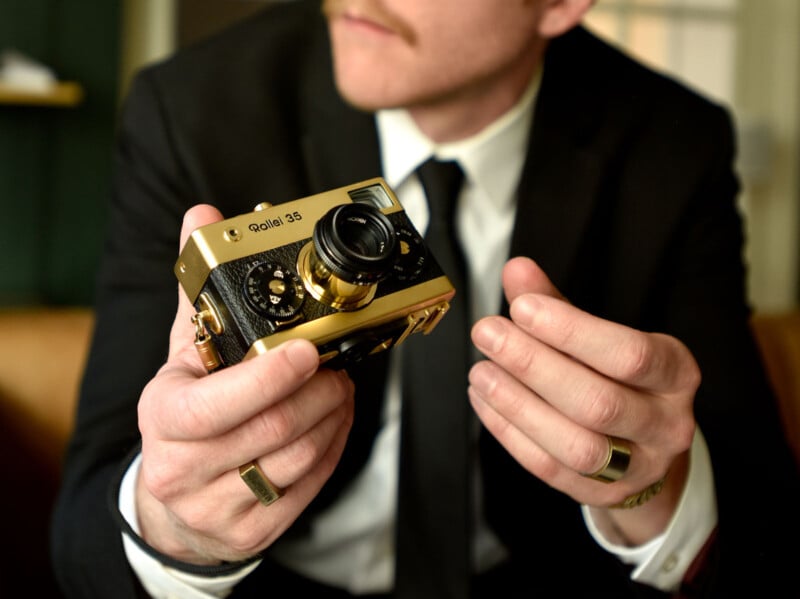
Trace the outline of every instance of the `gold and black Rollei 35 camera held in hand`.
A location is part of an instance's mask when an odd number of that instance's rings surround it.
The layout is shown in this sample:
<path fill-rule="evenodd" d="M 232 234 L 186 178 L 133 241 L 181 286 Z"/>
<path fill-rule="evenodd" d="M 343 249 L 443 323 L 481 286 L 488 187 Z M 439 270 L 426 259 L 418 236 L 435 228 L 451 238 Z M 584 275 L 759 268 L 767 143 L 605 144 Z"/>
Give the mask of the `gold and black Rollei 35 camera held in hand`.
<path fill-rule="evenodd" d="M 432 331 L 455 293 L 382 178 L 200 227 L 175 274 L 210 371 L 297 337 L 343 368 Z"/>

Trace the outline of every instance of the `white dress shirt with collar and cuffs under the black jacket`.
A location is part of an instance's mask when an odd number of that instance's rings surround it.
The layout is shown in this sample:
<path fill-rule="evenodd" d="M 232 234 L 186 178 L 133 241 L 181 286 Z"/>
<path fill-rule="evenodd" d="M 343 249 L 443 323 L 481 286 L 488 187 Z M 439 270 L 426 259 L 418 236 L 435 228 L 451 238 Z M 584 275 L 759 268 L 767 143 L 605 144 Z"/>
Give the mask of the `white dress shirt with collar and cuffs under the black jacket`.
<path fill-rule="evenodd" d="M 515 215 L 515 191 L 522 172 L 528 133 L 540 75 L 510 111 L 478 134 L 448 144 L 435 144 L 416 127 L 404 110 L 379 111 L 383 175 L 420 232 L 428 224 L 428 209 L 415 169 L 430 156 L 460 163 L 465 183 L 457 207 L 457 230 L 466 256 L 473 319 L 496 314 L 502 296 L 501 269 Z M 479 282 L 479 284 L 478 284 Z M 287 567 L 353 593 L 388 591 L 394 577 L 394 512 L 400 426 L 400 352 L 392 355 L 383 424 L 364 470 L 343 496 L 319 514 L 309 539 L 280 540 L 270 555 Z M 136 530 L 132 481 L 134 463 L 123 481 L 120 508 Z M 478 473 L 479 474 L 479 473 Z M 480 505 L 480 497 L 478 497 Z M 633 564 L 632 578 L 663 590 L 677 588 L 717 521 L 716 497 L 708 450 L 698 431 L 691 451 L 686 488 L 667 530 L 640 547 L 609 543 L 583 510 L 588 530 L 606 550 Z M 479 517 L 479 515 L 478 515 Z M 476 567 L 502 559 L 503 547 L 479 518 L 474 558 Z M 249 574 L 224 580 L 187 575 L 164 567 L 125 538 L 134 571 L 155 597 L 224 597 Z M 565 556 L 564 559 L 569 559 Z M 531 565 L 535 569 L 536 565 Z M 542 573 L 546 575 L 546 573 Z"/>

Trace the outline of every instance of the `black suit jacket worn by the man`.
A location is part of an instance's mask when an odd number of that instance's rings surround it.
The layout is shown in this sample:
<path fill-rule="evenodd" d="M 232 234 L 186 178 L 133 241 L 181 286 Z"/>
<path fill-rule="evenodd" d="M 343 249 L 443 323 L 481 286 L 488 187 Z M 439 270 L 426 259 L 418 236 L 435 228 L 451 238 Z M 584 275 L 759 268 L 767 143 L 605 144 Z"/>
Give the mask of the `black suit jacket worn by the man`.
<path fill-rule="evenodd" d="M 723 109 L 578 28 L 547 51 L 511 244 L 576 305 L 675 335 L 699 361 L 719 528 L 697 585 L 720 597 L 794 583 L 782 547 L 800 533 L 797 470 L 748 328 L 733 152 Z M 303 1 L 143 71 L 116 166 L 97 329 L 53 525 L 56 569 L 74 597 L 136 592 L 107 494 L 138 442 L 138 396 L 166 356 L 184 211 L 208 202 L 229 217 L 381 173 L 373 117 L 337 95 L 318 2 Z M 354 429 L 309 512 L 336 497 L 372 442 L 382 370 L 353 376 Z M 646 592 L 590 538 L 571 499 L 489 435 L 481 459 L 487 517 L 520 595 Z M 236 594 L 263 593 L 271 567 L 267 552 Z"/>

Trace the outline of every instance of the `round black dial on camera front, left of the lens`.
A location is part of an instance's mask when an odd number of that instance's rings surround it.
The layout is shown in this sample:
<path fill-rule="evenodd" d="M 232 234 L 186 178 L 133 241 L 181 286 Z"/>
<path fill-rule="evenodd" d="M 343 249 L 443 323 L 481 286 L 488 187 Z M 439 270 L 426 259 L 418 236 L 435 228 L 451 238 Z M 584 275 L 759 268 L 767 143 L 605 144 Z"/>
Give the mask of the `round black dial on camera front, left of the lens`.
<path fill-rule="evenodd" d="M 303 305 L 306 292 L 292 269 L 275 262 L 253 266 L 244 279 L 244 297 L 257 313 L 274 320 L 288 320 Z"/>

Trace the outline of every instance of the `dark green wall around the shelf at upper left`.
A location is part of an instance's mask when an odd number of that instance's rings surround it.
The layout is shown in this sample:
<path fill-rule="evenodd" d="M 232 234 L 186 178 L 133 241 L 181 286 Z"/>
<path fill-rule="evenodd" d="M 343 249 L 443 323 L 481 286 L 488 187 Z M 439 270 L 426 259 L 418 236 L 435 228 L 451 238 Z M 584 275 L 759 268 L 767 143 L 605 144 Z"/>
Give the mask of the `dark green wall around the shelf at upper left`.
<path fill-rule="evenodd" d="M 88 305 L 103 242 L 121 0 L 0 0 L 0 50 L 79 82 L 75 108 L 0 104 L 0 306 Z"/>

